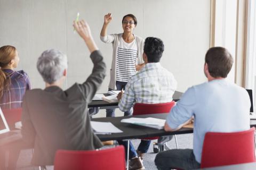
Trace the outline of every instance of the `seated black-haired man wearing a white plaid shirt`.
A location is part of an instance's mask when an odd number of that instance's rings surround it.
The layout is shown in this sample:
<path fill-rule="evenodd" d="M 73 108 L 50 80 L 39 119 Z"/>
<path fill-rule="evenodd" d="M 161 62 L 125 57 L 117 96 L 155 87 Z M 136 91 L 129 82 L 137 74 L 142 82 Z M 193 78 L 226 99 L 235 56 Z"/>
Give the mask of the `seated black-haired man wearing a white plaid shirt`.
<path fill-rule="evenodd" d="M 163 41 L 159 38 L 148 37 L 145 40 L 143 60 L 146 65 L 133 75 L 126 84 L 126 90 L 118 94 L 119 109 L 129 111 L 134 103 L 159 104 L 172 101 L 172 95 L 177 88 L 173 74 L 159 63 L 164 52 Z M 127 147 L 126 141 L 118 141 Z M 137 152 L 143 156 L 148 151 L 150 140 L 141 140 Z M 126 149 L 127 150 L 127 149 Z M 138 157 L 130 142 L 130 159 Z"/>

